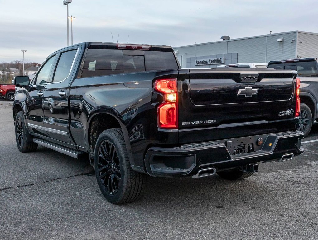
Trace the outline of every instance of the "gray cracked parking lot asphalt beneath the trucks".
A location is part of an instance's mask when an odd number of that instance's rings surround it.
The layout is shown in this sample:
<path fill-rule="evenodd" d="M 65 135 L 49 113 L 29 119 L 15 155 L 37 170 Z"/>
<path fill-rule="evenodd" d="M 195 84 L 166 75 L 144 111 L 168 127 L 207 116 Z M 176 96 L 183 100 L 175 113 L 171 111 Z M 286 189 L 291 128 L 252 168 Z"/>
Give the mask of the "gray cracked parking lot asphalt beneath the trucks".
<path fill-rule="evenodd" d="M 250 178 L 149 177 L 141 200 L 113 205 L 87 161 L 19 152 L 12 102 L 0 100 L 0 239 L 318 239 L 314 140 L 317 123 L 302 155 Z"/>

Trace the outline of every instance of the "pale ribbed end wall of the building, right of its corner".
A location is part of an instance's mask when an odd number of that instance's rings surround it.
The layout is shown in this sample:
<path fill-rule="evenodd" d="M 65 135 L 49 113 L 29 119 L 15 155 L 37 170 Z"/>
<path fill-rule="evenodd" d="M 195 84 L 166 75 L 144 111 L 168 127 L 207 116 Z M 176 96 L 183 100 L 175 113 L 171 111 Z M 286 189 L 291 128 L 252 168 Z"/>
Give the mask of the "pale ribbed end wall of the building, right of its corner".
<path fill-rule="evenodd" d="M 318 57 L 318 35 L 298 33 L 297 55 L 299 57 Z M 297 57 L 296 55 L 296 57 Z"/>

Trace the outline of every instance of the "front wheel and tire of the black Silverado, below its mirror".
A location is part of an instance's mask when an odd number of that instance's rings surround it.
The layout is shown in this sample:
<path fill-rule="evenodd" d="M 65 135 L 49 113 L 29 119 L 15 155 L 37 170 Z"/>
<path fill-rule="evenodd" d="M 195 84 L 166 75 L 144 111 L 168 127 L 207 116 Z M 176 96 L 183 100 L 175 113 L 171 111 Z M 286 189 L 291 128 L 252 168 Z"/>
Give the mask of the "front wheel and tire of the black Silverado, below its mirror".
<path fill-rule="evenodd" d="M 20 111 L 17 113 L 15 122 L 17 147 L 20 152 L 34 152 L 38 148 L 38 144 L 26 140 L 26 131 L 23 112 Z"/>

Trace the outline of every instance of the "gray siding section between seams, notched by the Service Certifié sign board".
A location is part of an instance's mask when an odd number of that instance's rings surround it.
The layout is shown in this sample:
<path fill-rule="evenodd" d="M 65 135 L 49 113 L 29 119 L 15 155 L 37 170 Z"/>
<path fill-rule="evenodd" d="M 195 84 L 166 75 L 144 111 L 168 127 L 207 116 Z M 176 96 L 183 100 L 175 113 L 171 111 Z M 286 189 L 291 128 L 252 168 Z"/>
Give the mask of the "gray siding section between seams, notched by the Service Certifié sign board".
<path fill-rule="evenodd" d="M 227 51 L 238 54 L 238 63 L 264 62 L 266 37 L 229 41 Z"/>

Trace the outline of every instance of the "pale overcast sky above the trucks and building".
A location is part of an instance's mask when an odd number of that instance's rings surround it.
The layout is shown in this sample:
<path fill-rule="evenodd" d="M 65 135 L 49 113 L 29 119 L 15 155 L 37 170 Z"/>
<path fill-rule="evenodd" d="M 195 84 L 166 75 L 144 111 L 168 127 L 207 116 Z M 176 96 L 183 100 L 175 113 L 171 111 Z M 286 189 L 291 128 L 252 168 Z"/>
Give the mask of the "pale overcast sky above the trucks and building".
<path fill-rule="evenodd" d="M 69 15 L 76 17 L 73 43 L 118 38 L 178 47 L 270 30 L 318 33 L 317 7 L 317 0 L 73 0 Z M 67 46 L 63 0 L 0 0 L 0 26 L 0 63 L 22 60 L 21 49 L 27 62 L 42 63 Z"/>

